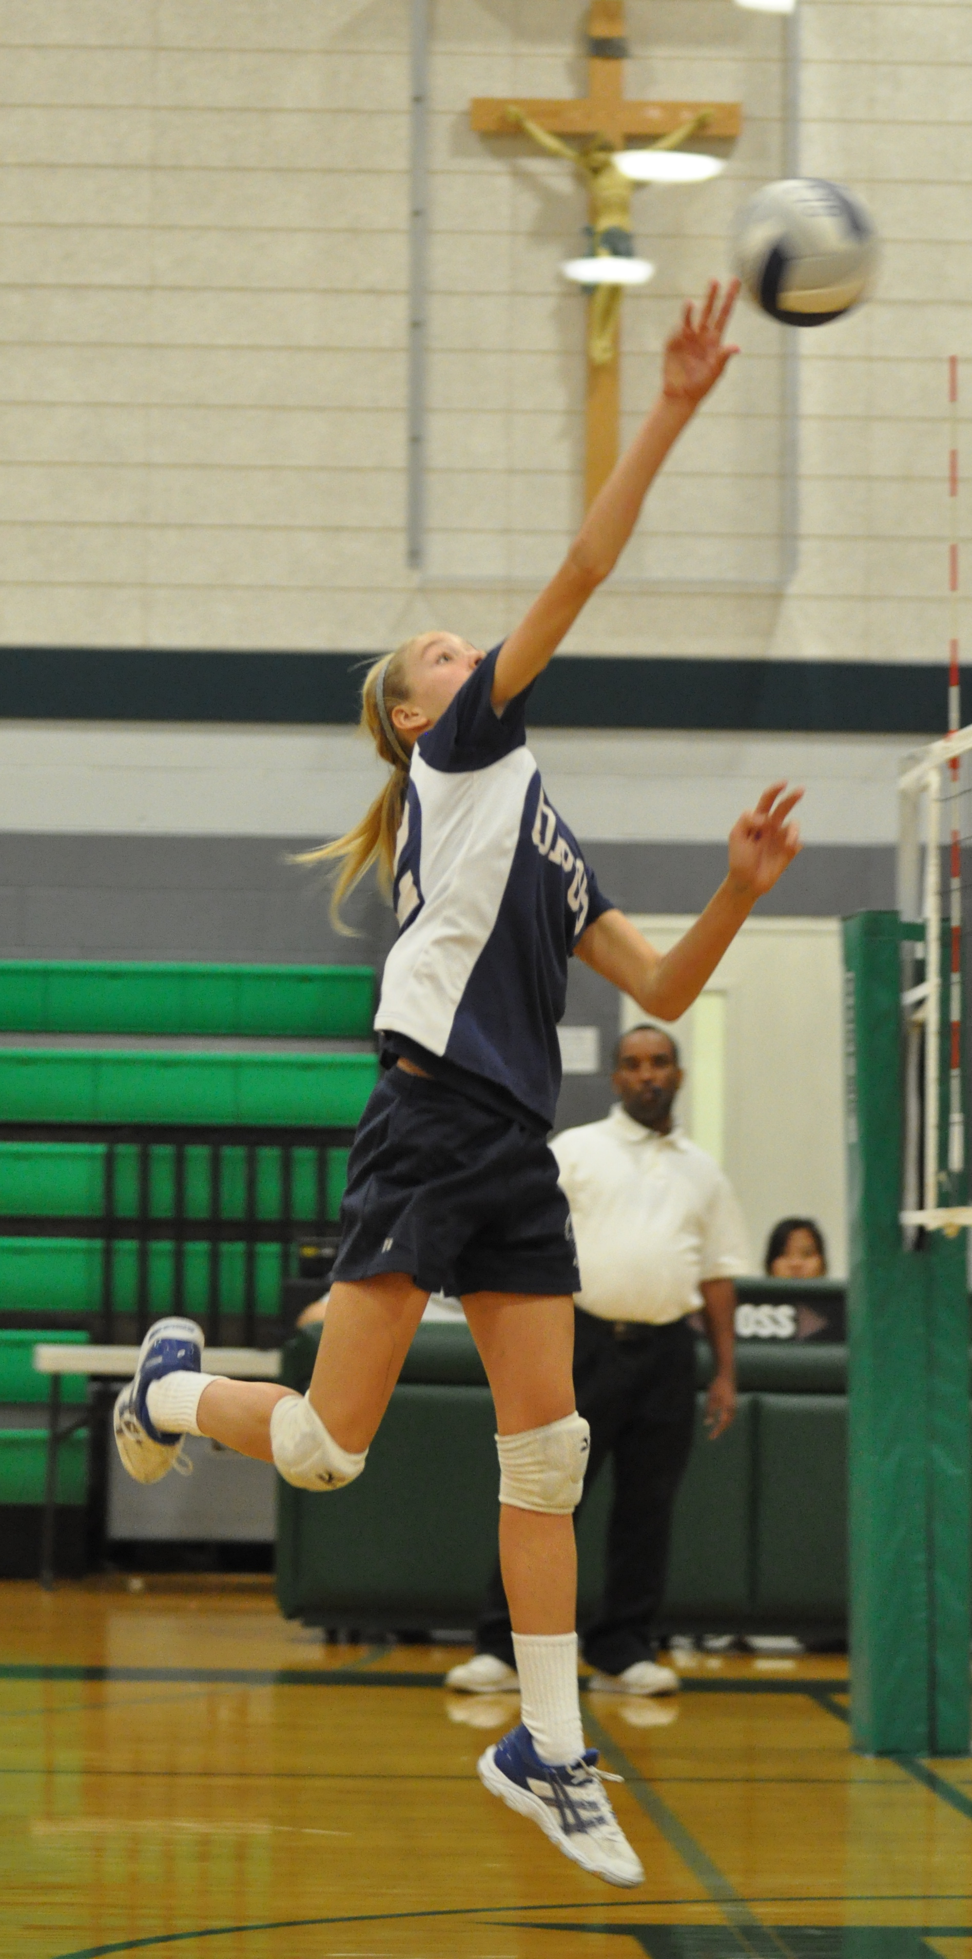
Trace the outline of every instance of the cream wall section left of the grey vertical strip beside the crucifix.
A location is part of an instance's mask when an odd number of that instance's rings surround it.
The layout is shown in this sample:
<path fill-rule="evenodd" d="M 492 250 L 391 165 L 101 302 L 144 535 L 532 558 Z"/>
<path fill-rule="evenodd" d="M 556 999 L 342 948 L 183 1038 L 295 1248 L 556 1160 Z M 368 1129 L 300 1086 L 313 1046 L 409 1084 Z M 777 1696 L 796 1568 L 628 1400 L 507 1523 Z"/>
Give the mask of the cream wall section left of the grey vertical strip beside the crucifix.
<path fill-rule="evenodd" d="M 20 519 L 0 529 L 4 637 L 137 646 L 282 635 L 312 646 L 323 594 L 351 586 L 366 617 L 349 619 L 339 601 L 323 637 L 351 627 L 351 643 L 372 639 L 372 594 L 398 554 L 404 503 L 406 37 L 396 10 L 361 24 L 339 4 L 78 0 L 41 22 L 0 8 L 0 394 L 8 413 L 25 411 L 20 460 L 41 470 L 31 484 L 14 470 L 0 488 Z M 114 486 L 112 404 L 139 423 L 123 439 L 137 480 Z M 370 498 L 335 486 L 329 404 L 353 423 L 347 460 L 359 472 L 366 462 Z M 386 456 L 372 441 L 380 404 L 394 417 Z M 170 406 L 194 447 L 194 492 L 155 490 Z M 84 429 L 78 407 L 92 411 Z M 286 427 L 288 409 L 312 417 L 310 445 L 306 429 L 296 439 Z M 263 470 L 274 449 L 290 490 L 247 486 L 247 468 Z M 67 470 L 100 466 L 86 507 L 63 478 L 43 480 L 51 454 Z M 221 509 L 208 498 L 214 462 L 243 478 Z M 327 472 L 329 492 L 308 468 Z M 98 519 L 118 529 L 106 535 Z M 357 564 L 351 527 L 364 537 Z M 325 562 L 321 537 L 335 529 L 345 545 Z M 186 582 L 202 605 L 182 601 Z"/>

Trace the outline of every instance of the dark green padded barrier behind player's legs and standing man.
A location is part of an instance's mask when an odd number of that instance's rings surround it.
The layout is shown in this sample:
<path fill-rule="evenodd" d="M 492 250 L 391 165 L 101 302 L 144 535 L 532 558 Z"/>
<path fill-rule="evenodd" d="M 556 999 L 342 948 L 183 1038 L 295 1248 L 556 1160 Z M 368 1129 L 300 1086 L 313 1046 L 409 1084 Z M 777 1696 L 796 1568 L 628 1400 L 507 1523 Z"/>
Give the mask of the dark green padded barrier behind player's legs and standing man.
<path fill-rule="evenodd" d="M 780 1289 L 782 1293 L 782 1289 Z M 284 1348 L 306 1389 L 317 1332 Z M 668 1630 L 837 1632 L 847 1614 L 847 1356 L 837 1346 L 739 1348 L 739 1416 L 700 1436 L 676 1508 Z M 609 1469 L 578 1526 L 578 1612 L 604 1575 Z M 276 1591 L 325 1626 L 472 1626 L 496 1555 L 492 1401 L 462 1324 L 419 1326 L 368 1469 L 335 1497 L 278 1483 Z"/>

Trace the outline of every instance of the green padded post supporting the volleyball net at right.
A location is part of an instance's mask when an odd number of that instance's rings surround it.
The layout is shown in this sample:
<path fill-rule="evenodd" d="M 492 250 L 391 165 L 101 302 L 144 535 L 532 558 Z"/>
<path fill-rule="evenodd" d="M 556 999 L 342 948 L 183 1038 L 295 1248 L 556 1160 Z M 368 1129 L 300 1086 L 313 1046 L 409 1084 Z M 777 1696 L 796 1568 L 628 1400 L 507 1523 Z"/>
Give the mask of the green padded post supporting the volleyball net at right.
<path fill-rule="evenodd" d="M 868 1753 L 958 1755 L 970 1734 L 966 1260 L 964 1234 L 901 1244 L 899 948 L 898 913 L 845 921 L 850 1726 Z"/>

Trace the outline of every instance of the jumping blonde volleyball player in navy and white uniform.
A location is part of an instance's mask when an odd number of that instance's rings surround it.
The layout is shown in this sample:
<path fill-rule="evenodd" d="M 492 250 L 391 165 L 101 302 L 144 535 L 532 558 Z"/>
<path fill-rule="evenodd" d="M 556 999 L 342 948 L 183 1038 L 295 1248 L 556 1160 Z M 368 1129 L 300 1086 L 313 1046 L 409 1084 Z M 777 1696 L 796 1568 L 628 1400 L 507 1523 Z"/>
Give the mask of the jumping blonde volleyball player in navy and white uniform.
<path fill-rule="evenodd" d="M 560 1085 L 557 1023 L 578 954 L 643 1013 L 676 1021 L 800 848 L 798 801 L 774 784 L 729 836 L 729 872 L 660 958 L 598 887 L 547 801 L 525 707 L 584 601 L 631 537 L 649 484 L 737 351 L 735 288 L 713 284 L 664 349 L 662 392 L 584 519 L 564 564 L 490 654 L 421 633 L 376 662 L 363 725 L 392 776 L 363 821 L 316 852 L 341 864 L 335 905 L 370 864 L 400 936 L 382 980 L 382 1079 L 351 1150 L 341 1248 L 308 1395 L 200 1373 L 202 1332 L 161 1320 L 116 1403 L 122 1461 L 165 1475 L 182 1434 L 276 1463 L 325 1491 L 364 1469 L 427 1295 L 459 1293 L 496 1405 L 500 1555 L 521 1724 L 480 1777 L 582 1869 L 643 1879 L 584 1749 L 574 1632 L 588 1424 L 574 1409 L 566 1199 L 547 1146 Z"/>

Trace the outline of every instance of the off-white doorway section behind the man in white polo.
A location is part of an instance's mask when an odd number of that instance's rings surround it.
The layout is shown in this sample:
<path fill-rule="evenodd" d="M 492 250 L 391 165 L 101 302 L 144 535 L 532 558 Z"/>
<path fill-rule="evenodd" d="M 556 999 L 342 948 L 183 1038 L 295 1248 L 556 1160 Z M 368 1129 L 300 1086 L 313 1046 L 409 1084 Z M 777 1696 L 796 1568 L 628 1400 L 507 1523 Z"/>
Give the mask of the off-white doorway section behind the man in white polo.
<path fill-rule="evenodd" d="M 662 952 L 690 923 L 635 919 Z M 621 1001 L 621 1028 L 643 1019 Z M 776 1220 L 796 1213 L 817 1218 L 831 1271 L 847 1273 L 839 919 L 751 919 L 672 1032 L 688 1077 L 680 1117 L 723 1162 L 753 1269 Z"/>

